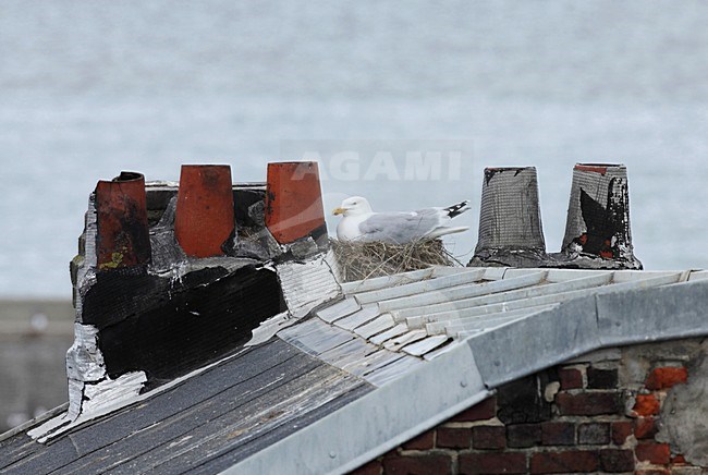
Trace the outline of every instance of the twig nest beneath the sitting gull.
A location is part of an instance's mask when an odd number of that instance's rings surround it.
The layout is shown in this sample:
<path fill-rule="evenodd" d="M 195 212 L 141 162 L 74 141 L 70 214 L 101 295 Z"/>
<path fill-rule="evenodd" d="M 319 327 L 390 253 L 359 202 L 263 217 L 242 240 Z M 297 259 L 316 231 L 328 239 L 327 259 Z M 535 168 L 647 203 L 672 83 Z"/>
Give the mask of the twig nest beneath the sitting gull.
<path fill-rule="evenodd" d="M 340 278 L 344 282 L 391 276 L 430 266 L 460 265 L 440 240 L 410 244 L 331 240 L 331 246 L 339 265 Z"/>

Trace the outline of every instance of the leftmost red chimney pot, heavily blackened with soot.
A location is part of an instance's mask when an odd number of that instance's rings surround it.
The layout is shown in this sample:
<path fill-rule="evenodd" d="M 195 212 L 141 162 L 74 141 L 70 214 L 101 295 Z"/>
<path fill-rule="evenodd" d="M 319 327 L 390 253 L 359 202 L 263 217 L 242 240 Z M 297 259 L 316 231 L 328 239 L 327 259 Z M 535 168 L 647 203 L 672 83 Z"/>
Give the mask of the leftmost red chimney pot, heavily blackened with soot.
<path fill-rule="evenodd" d="M 150 236 L 145 176 L 122 171 L 96 185 L 96 258 L 98 270 L 147 266 Z"/>

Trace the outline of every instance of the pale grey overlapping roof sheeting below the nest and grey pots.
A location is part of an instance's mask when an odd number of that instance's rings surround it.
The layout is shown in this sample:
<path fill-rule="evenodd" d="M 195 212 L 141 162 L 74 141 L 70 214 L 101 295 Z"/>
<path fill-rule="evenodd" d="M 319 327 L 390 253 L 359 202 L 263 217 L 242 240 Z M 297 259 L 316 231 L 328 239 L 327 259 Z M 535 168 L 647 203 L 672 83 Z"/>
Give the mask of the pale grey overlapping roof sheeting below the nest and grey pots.
<path fill-rule="evenodd" d="M 670 271 L 424 269 L 344 283 L 344 300 L 316 315 L 371 344 L 425 356 L 476 332 L 552 312 L 576 299 L 688 278 L 689 273 Z"/>

